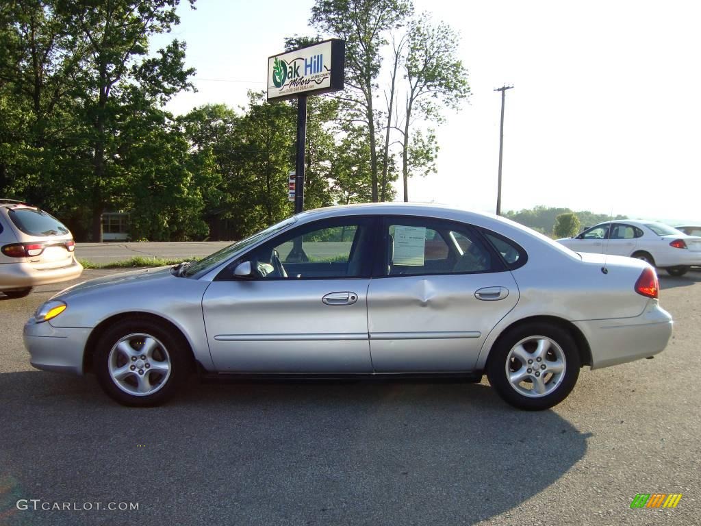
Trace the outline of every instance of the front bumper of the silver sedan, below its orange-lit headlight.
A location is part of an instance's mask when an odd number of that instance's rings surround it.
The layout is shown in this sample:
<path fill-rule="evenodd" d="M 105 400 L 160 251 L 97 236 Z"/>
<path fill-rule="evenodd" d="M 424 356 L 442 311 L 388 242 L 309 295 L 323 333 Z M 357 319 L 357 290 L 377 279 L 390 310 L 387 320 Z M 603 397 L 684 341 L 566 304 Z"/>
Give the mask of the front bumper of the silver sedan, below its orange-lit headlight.
<path fill-rule="evenodd" d="M 37 369 L 83 375 L 83 353 L 92 329 L 57 328 L 50 322 L 25 323 L 25 348 Z"/>

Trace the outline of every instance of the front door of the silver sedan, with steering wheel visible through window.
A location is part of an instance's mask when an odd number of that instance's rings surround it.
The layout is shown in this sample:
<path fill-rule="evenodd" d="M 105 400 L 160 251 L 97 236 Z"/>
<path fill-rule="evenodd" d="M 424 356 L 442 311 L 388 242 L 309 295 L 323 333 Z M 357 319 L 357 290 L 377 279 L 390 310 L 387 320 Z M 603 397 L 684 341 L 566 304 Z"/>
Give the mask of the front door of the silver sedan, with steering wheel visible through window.
<path fill-rule="evenodd" d="M 322 220 L 232 262 L 207 288 L 203 313 L 222 372 L 372 372 L 367 288 L 373 220 Z M 252 274 L 236 277 L 241 262 Z"/>

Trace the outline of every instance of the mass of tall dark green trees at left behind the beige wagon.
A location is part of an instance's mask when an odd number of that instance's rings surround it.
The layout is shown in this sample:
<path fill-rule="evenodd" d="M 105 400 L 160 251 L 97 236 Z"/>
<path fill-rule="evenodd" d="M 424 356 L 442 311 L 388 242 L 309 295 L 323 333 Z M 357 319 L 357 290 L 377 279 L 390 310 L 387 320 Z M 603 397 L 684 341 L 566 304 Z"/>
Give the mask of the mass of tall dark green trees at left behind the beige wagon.
<path fill-rule="evenodd" d="M 190 154 L 161 109 L 192 88 L 193 69 L 177 40 L 149 56 L 149 36 L 177 25 L 178 4 L 27 0 L 0 9 L 3 196 L 59 215 L 77 239 L 101 241 L 102 212 L 132 207 L 135 235 L 207 234 L 210 161 Z"/>

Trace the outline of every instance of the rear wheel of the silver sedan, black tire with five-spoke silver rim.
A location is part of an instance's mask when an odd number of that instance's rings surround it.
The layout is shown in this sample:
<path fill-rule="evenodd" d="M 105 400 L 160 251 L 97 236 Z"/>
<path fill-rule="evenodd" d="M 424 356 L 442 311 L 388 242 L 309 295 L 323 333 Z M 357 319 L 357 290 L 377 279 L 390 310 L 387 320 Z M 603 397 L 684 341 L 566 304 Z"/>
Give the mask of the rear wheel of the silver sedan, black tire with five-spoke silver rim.
<path fill-rule="evenodd" d="M 536 353 L 531 351 L 537 348 L 540 341 L 544 342 L 545 353 L 538 361 Z M 522 362 L 512 354 L 512 350 L 516 350 L 519 344 L 533 363 Z M 508 377 L 507 360 L 512 373 L 522 370 L 523 375 L 527 377 L 517 386 L 514 386 Z M 562 364 L 562 372 L 550 371 L 550 367 L 554 371 L 559 364 Z M 540 367 L 543 367 L 543 370 L 538 370 Z M 539 411 L 549 409 L 567 398 L 577 383 L 579 368 L 577 344 L 569 332 L 549 323 L 528 323 L 517 326 L 499 337 L 489 353 L 486 375 L 491 386 L 505 402 L 519 409 Z M 535 375 L 538 375 L 537 379 Z M 535 392 L 538 379 L 545 380 L 541 384 L 542 394 Z"/>

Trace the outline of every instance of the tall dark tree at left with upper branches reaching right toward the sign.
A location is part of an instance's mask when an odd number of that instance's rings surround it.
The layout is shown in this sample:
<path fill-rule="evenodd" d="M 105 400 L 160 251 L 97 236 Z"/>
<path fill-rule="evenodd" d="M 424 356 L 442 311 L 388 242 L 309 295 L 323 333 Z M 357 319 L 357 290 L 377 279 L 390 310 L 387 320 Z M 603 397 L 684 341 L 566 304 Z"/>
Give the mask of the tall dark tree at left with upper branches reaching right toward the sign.
<path fill-rule="evenodd" d="M 149 37 L 169 32 L 179 23 L 175 8 L 179 0 L 88 0 L 65 1 L 68 30 L 86 48 L 82 63 L 81 119 L 89 126 L 92 170 L 86 182 L 92 214 L 93 241 L 102 241 L 102 212 L 111 202 L 111 194 L 121 184 L 118 116 L 121 97 L 135 86 L 142 91 L 137 100 L 163 104 L 180 90 L 192 88 L 188 77 L 194 69 L 184 68 L 185 44 L 174 40 L 148 54 Z M 190 0 L 194 4 L 194 0 Z"/>

